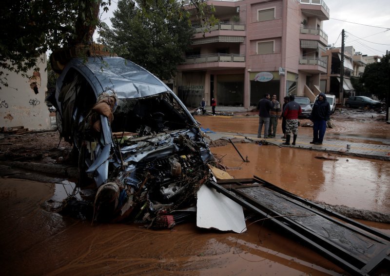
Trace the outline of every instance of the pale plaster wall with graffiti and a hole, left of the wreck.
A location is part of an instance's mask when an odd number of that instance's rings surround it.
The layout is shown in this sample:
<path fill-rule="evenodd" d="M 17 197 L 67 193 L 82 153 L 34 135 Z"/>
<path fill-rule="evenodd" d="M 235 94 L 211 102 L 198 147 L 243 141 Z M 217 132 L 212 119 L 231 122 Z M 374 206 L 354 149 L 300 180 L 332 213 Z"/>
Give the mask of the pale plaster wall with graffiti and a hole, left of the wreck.
<path fill-rule="evenodd" d="M 50 128 L 47 90 L 46 54 L 38 60 L 39 72 L 27 72 L 31 78 L 4 71 L 8 87 L 0 89 L 0 127 L 24 126 L 29 129 Z"/>

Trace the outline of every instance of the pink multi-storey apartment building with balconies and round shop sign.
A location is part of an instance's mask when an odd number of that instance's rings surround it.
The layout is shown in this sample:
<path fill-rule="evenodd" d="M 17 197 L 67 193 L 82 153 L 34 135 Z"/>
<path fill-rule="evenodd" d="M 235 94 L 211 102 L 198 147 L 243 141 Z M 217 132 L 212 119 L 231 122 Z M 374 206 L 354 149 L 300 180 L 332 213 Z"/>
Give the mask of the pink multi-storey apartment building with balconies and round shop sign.
<path fill-rule="evenodd" d="M 314 99 L 328 36 L 323 0 L 209 0 L 219 23 L 203 33 L 194 18 L 195 37 L 173 88 L 187 106 L 205 98 L 210 105 L 250 106 L 264 97 L 288 94 Z M 199 26 L 199 25 L 198 25 Z"/>

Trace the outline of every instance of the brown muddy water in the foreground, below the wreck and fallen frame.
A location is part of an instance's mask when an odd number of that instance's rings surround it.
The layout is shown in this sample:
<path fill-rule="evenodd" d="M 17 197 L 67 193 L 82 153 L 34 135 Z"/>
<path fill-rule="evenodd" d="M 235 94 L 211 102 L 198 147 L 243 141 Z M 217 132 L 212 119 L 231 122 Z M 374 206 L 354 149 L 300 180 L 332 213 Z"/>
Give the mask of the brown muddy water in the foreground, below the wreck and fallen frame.
<path fill-rule="evenodd" d="M 65 184 L 66 185 L 66 184 Z M 250 224 L 244 234 L 146 230 L 45 211 L 63 185 L 0 179 L 1 275 L 338 275 L 343 270 L 288 237 Z"/>

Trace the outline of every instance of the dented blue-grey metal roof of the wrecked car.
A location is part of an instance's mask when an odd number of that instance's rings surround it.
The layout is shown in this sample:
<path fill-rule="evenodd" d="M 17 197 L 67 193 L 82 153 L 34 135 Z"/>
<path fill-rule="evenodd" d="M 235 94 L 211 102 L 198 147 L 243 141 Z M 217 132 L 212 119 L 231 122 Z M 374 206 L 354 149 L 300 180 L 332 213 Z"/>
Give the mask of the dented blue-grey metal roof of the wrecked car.
<path fill-rule="evenodd" d="M 76 69 L 85 77 L 96 96 L 114 90 L 118 98 L 147 97 L 172 90 L 155 75 L 139 65 L 121 57 L 88 57 L 71 59 L 62 74 L 61 82 L 70 69 Z"/>

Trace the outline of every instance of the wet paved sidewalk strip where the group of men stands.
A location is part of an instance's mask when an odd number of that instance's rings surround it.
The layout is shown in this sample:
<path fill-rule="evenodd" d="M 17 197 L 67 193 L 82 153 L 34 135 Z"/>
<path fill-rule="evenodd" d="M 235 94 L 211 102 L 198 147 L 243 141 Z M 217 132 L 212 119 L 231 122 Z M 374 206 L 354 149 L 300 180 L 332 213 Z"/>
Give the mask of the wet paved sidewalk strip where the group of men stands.
<path fill-rule="evenodd" d="M 207 132 L 206 135 L 212 140 L 218 139 L 228 139 L 228 138 L 238 138 L 245 139 L 250 138 L 254 142 L 262 141 L 263 138 L 257 138 L 255 134 L 235 134 L 229 132 L 218 132 L 210 133 Z M 281 135 L 280 135 L 281 136 Z M 299 136 L 296 140 L 296 145 L 281 145 L 284 141 L 281 138 L 268 138 L 265 139 L 268 142 L 281 146 L 281 147 L 291 147 L 297 149 L 305 149 L 311 151 L 321 151 L 332 154 L 341 154 L 341 155 L 351 155 L 365 158 L 373 158 L 379 160 L 390 161 L 390 146 L 387 145 L 375 145 L 375 144 L 365 144 L 365 143 L 351 143 L 349 141 L 343 140 L 331 140 L 326 139 L 322 142 L 322 145 L 313 145 L 310 142 L 312 141 L 311 137 Z M 347 144 L 351 146 L 350 149 L 347 149 Z"/>

